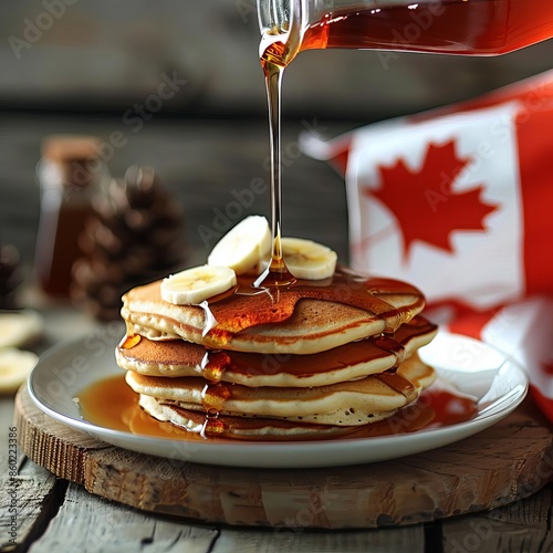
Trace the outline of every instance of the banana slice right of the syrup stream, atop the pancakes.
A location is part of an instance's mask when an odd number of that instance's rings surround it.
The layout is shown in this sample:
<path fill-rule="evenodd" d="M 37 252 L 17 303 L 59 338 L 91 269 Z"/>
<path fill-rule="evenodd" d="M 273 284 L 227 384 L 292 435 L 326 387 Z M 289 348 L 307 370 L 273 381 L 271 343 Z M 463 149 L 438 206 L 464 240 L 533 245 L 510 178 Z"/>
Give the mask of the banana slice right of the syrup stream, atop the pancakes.
<path fill-rule="evenodd" d="M 335 251 L 303 238 L 283 238 L 282 255 L 288 270 L 296 279 L 327 279 L 336 269 Z"/>

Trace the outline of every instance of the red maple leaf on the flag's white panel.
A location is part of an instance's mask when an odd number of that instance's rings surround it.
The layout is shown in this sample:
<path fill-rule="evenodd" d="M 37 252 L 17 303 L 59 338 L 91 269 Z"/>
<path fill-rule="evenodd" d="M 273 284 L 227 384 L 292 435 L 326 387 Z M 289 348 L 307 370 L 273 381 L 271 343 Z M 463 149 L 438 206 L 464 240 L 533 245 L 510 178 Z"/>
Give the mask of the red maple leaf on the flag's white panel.
<path fill-rule="evenodd" d="M 452 252 L 456 231 L 486 231 L 483 219 L 498 206 L 481 199 L 483 186 L 457 192 L 453 184 L 470 163 L 458 157 L 455 142 L 429 144 L 420 170 L 409 169 L 404 159 L 379 166 L 382 186 L 364 194 L 378 198 L 396 217 L 404 236 L 404 254 L 416 241 Z"/>

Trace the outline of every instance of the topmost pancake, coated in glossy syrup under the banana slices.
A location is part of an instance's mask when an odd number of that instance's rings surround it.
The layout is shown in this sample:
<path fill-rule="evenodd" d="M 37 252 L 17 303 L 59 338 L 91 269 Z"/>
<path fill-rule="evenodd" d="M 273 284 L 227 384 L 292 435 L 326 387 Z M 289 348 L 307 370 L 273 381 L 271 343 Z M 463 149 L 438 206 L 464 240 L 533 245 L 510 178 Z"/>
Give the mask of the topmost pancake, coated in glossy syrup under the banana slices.
<path fill-rule="evenodd" d="M 131 290 L 123 302 L 128 332 L 149 340 L 182 338 L 211 348 L 294 355 L 393 333 L 424 307 L 421 292 L 409 284 L 345 270 L 324 283 L 276 291 L 242 282 L 201 305 L 163 301 L 157 281 Z"/>

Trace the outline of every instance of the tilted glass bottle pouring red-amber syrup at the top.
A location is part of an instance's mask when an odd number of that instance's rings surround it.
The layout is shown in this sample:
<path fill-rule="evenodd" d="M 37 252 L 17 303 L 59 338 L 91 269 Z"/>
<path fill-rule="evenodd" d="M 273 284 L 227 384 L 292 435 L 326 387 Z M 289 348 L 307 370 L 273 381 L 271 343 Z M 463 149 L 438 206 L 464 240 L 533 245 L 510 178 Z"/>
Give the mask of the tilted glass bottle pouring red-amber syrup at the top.
<path fill-rule="evenodd" d="M 553 36 L 551 0 L 258 0 L 263 34 L 288 58 L 346 48 L 495 55 Z"/>

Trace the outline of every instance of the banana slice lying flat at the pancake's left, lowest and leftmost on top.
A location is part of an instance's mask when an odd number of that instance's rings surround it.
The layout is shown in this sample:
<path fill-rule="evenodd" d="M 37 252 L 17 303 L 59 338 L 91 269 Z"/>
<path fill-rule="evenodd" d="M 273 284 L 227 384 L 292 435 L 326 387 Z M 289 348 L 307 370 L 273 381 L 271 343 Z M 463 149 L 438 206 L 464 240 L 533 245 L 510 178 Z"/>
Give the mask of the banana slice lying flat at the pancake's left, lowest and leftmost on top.
<path fill-rule="evenodd" d="M 192 267 L 164 279 L 161 299 L 176 305 L 198 305 L 236 285 L 237 275 L 229 267 Z"/>

